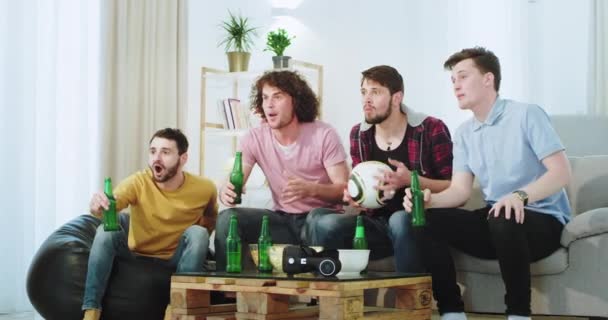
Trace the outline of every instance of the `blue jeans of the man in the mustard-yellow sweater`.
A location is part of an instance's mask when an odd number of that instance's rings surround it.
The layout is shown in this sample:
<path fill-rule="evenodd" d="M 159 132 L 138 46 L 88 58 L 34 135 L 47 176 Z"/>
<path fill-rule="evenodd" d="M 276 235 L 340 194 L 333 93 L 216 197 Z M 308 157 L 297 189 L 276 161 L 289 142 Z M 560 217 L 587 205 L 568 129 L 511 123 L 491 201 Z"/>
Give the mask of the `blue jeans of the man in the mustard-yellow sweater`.
<path fill-rule="evenodd" d="M 176 267 L 177 272 L 203 271 L 208 248 L 209 232 L 199 225 L 193 225 L 182 234 L 171 259 L 158 260 L 171 267 Z M 127 233 L 122 228 L 120 231 L 106 232 L 103 230 L 102 224 L 97 228 L 89 254 L 87 280 L 82 302 L 83 310 L 101 309 L 101 301 L 116 257 L 135 259 L 136 255 L 129 250 Z"/>

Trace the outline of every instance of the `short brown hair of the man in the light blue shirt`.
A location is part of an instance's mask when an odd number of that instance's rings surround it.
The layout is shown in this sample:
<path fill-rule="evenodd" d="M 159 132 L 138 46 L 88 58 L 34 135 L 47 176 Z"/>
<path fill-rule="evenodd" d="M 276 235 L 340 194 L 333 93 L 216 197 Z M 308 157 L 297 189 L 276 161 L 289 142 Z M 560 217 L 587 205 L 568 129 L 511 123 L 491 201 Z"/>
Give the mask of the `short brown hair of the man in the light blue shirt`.
<path fill-rule="evenodd" d="M 451 55 L 448 60 L 445 61 L 443 67 L 447 70 L 452 70 L 456 64 L 466 59 L 473 59 L 473 63 L 481 73 L 492 72 L 494 75 L 494 89 L 498 92 L 501 78 L 500 62 L 494 52 L 484 47 L 462 49 Z"/>

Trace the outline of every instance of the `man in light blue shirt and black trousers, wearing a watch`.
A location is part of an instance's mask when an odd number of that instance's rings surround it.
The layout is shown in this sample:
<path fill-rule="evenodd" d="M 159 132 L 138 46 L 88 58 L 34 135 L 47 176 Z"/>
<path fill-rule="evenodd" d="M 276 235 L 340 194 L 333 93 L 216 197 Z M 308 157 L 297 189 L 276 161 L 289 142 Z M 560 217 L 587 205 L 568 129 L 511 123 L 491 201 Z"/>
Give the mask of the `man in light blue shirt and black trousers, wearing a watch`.
<path fill-rule="evenodd" d="M 417 232 L 422 258 L 433 277 L 442 319 L 466 319 L 453 246 L 483 259 L 497 259 L 509 320 L 530 319 L 530 263 L 559 248 L 570 205 L 564 186 L 570 164 L 549 117 L 539 106 L 502 99 L 500 63 L 485 48 L 450 56 L 454 94 L 473 117 L 454 137 L 452 183 L 443 192 L 425 190 L 427 226 Z M 457 207 L 477 178 L 487 206 Z M 404 207 L 411 211 L 406 190 Z"/>

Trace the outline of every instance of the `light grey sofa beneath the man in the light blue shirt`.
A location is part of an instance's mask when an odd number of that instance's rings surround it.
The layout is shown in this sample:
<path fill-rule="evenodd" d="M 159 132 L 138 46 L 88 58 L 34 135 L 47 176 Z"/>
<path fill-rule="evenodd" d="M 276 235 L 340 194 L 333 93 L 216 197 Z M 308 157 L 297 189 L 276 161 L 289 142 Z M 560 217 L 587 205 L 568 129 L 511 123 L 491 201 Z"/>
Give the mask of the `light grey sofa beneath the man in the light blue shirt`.
<path fill-rule="evenodd" d="M 558 115 L 552 123 L 572 167 L 567 186 L 573 219 L 562 233 L 562 248 L 531 265 L 532 313 L 608 317 L 608 118 Z M 479 188 L 466 208 L 483 205 Z M 504 313 L 504 285 L 496 260 L 453 250 L 465 310 Z M 390 269 L 392 260 L 370 270 Z M 366 303 L 391 305 L 391 292 L 366 293 Z"/>

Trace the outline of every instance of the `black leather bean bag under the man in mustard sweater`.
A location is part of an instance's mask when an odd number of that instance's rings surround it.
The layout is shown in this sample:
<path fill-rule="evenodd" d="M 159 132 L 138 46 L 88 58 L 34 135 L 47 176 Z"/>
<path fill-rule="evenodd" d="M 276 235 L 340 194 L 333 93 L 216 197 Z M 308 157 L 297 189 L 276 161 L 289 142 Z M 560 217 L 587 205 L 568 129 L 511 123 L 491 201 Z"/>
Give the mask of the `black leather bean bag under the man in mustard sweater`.
<path fill-rule="evenodd" d="M 129 215 L 120 222 L 128 230 Z M 27 275 L 27 293 L 48 320 L 79 320 L 89 250 L 101 221 L 82 215 L 61 226 L 38 249 Z M 154 259 L 116 259 L 102 305 L 102 319 L 163 319 L 174 270 Z"/>

